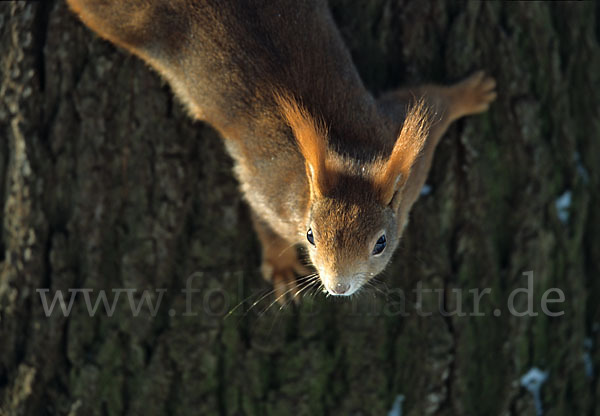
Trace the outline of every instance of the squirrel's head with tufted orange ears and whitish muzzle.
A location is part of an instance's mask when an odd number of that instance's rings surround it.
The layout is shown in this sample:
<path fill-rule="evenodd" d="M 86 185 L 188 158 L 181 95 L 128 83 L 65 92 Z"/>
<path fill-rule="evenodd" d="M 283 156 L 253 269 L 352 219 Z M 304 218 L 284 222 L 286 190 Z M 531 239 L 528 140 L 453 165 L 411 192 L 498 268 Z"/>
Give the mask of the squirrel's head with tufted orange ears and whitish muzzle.
<path fill-rule="evenodd" d="M 429 132 L 425 107 L 409 109 L 389 155 L 359 163 L 328 149 L 323 121 L 292 99 L 277 101 L 305 160 L 302 239 L 325 289 L 351 295 L 384 270 L 400 241 L 403 191 Z"/>

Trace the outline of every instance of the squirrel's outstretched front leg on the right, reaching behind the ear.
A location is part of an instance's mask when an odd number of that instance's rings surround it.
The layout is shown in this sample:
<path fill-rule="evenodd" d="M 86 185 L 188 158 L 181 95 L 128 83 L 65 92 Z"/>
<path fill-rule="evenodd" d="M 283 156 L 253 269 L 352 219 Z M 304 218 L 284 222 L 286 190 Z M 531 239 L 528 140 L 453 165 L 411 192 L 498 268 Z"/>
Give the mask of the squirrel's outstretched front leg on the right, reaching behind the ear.
<path fill-rule="evenodd" d="M 393 91 L 381 97 L 381 110 L 394 118 L 403 114 L 407 106 L 424 100 L 429 108 L 431 126 L 421 155 L 412 166 L 403 190 L 399 207 L 400 224 L 403 226 L 408 212 L 421 193 L 433 161 L 435 149 L 453 121 L 471 114 L 486 111 L 496 99 L 496 81 L 478 71 L 465 80 L 451 86 L 425 85 L 412 89 Z"/>

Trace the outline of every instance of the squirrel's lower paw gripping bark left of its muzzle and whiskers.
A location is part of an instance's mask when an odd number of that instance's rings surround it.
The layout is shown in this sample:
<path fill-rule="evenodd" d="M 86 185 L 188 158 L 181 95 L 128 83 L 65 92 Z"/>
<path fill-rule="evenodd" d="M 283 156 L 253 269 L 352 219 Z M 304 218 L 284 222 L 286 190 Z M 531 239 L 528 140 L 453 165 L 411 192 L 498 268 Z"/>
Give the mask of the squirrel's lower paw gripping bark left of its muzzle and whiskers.
<path fill-rule="evenodd" d="M 286 300 L 288 299 L 294 301 L 296 304 L 300 302 L 298 295 L 301 289 L 298 288 L 296 275 L 306 276 L 311 273 L 308 267 L 300 263 L 295 251 L 293 256 L 264 259 L 261 265 L 261 272 L 263 278 L 273 284 L 275 300 L 281 306 L 286 305 Z"/>

